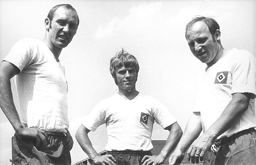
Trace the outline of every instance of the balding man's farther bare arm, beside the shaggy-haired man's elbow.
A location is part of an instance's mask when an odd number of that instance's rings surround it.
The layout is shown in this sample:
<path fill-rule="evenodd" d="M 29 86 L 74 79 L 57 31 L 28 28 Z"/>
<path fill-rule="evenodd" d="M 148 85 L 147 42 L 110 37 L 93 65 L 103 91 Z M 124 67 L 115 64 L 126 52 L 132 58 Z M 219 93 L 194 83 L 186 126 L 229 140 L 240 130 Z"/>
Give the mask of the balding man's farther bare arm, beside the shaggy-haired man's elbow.
<path fill-rule="evenodd" d="M 193 141 L 198 138 L 202 131 L 200 112 L 194 112 L 186 124 L 186 128 L 177 148 L 169 158 L 170 165 L 179 165 L 183 160 L 184 154 Z"/>

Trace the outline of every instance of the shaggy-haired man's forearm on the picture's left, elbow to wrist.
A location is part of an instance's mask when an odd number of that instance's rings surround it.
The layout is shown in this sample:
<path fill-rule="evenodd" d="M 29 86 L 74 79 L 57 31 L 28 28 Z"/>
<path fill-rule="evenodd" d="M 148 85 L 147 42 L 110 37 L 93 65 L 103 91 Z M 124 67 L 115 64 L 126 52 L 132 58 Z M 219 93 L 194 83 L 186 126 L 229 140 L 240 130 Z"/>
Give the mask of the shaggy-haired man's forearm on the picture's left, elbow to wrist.
<path fill-rule="evenodd" d="M 93 145 L 88 137 L 88 132 L 86 128 L 81 125 L 79 129 L 76 131 L 76 140 L 78 141 L 79 145 L 81 146 L 82 150 L 91 158 L 93 159 L 98 154 L 93 148 Z"/>

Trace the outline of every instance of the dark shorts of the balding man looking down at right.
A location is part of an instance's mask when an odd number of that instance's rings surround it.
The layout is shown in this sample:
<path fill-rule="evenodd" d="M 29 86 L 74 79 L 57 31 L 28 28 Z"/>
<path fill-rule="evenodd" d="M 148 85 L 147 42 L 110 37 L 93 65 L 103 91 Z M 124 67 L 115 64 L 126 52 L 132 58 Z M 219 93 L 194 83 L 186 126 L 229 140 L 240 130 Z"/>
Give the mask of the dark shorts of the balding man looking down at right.
<path fill-rule="evenodd" d="M 256 131 L 250 129 L 248 133 L 221 144 L 216 155 L 207 151 L 203 164 L 256 165 Z"/>

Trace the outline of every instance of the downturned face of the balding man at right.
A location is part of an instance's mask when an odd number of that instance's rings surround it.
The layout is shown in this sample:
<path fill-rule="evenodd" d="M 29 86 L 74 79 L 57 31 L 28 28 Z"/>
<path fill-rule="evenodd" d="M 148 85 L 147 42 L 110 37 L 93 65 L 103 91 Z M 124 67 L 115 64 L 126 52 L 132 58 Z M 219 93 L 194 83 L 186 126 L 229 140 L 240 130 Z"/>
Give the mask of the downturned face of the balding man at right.
<path fill-rule="evenodd" d="M 216 31 L 213 37 L 207 25 L 201 21 L 195 22 L 189 27 L 186 34 L 191 52 L 201 62 L 206 63 L 208 67 L 218 61 L 216 55 L 219 48 L 217 42 L 220 39 L 219 30 Z"/>

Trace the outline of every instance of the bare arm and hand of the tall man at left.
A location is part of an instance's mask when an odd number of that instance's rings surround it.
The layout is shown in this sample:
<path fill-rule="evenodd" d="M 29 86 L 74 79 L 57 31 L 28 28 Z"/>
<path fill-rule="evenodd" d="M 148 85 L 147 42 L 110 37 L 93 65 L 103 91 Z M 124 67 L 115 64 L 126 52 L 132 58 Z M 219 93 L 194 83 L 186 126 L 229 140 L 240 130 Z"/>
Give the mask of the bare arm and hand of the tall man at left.
<path fill-rule="evenodd" d="M 37 147 L 41 144 L 42 148 L 46 148 L 47 135 L 45 132 L 36 128 L 24 128 L 20 122 L 20 117 L 13 102 L 10 81 L 18 73 L 20 73 L 20 70 L 15 65 L 6 61 L 0 63 L 0 107 L 19 136 L 32 137 L 36 140 Z"/>

